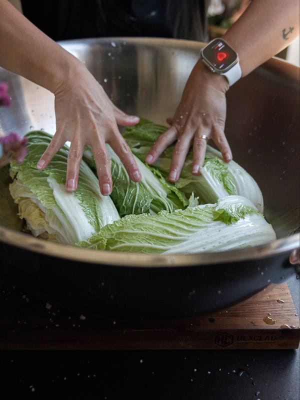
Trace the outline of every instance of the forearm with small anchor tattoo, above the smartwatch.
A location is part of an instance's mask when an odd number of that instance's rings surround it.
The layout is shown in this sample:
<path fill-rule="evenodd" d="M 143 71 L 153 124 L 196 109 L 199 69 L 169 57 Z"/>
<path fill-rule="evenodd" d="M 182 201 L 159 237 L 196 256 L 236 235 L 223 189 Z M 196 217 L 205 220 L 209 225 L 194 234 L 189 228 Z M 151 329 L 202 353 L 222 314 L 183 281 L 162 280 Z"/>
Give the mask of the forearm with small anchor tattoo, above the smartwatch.
<path fill-rule="evenodd" d="M 223 38 L 237 51 L 242 76 L 299 34 L 299 0 L 253 0 Z"/>

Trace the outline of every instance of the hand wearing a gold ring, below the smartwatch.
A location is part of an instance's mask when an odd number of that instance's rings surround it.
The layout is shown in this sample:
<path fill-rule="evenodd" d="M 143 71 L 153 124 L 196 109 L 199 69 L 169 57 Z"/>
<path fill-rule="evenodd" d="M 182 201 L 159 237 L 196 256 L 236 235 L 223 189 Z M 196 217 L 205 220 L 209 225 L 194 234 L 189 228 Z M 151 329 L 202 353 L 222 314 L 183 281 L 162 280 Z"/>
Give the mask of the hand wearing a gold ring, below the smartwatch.
<path fill-rule="evenodd" d="M 176 140 L 169 171 L 169 180 L 175 182 L 186 154 L 193 146 L 191 172 L 200 174 L 206 150 L 206 138 L 211 138 L 227 162 L 232 159 L 231 150 L 224 134 L 226 117 L 225 92 L 228 82 L 224 76 L 214 74 L 199 60 L 185 84 L 179 105 L 170 128 L 162 133 L 150 148 L 145 161 L 155 162 L 162 151 Z M 201 137 L 204 135 L 204 138 Z"/>

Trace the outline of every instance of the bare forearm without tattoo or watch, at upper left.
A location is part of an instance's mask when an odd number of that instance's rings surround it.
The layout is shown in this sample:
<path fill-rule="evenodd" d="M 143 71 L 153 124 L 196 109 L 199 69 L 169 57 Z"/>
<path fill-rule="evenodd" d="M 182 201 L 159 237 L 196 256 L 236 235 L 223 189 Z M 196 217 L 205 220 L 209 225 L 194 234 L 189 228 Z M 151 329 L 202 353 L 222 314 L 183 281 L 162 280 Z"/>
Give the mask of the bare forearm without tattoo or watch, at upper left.
<path fill-rule="evenodd" d="M 0 0 L 0 66 L 54 92 L 78 61 Z"/>

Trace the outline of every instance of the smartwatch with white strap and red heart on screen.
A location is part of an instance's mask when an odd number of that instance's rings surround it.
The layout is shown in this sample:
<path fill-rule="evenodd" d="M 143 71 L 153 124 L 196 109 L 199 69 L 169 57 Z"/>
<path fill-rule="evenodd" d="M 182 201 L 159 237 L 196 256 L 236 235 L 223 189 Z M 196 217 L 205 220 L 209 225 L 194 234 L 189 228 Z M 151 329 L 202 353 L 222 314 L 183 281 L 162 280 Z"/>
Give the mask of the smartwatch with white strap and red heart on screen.
<path fill-rule="evenodd" d="M 224 39 L 211 40 L 202 48 L 201 58 L 212 72 L 224 75 L 229 86 L 241 77 L 237 52 Z"/>

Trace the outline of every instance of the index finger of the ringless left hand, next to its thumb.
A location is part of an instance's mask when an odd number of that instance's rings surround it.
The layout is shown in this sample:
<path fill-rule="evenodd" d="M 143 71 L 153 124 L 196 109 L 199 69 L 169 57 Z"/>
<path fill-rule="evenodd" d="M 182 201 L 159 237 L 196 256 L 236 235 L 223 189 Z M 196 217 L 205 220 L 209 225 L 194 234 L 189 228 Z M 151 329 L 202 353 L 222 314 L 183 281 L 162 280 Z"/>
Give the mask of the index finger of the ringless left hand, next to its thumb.
<path fill-rule="evenodd" d="M 114 140 L 110 140 L 109 144 L 119 156 L 130 179 L 133 180 L 133 182 L 139 182 L 141 179 L 140 171 L 136 165 L 131 149 L 123 137 L 118 134 Z"/>

